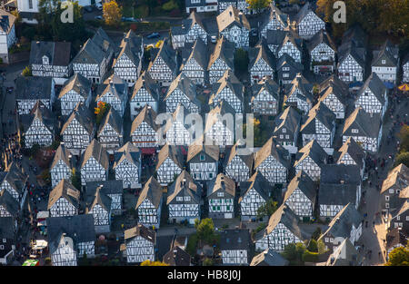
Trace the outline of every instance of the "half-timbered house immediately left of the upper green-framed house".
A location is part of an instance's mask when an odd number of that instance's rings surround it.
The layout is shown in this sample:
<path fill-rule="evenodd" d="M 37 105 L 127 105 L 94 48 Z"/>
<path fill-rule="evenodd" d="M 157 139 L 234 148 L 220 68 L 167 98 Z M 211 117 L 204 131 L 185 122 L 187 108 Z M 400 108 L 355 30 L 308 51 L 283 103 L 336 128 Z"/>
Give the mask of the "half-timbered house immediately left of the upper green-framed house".
<path fill-rule="evenodd" d="M 175 175 L 179 175 L 184 168 L 184 157 L 180 148 L 165 144 L 157 155 L 156 174 L 157 181 L 162 185 L 175 181 Z"/>

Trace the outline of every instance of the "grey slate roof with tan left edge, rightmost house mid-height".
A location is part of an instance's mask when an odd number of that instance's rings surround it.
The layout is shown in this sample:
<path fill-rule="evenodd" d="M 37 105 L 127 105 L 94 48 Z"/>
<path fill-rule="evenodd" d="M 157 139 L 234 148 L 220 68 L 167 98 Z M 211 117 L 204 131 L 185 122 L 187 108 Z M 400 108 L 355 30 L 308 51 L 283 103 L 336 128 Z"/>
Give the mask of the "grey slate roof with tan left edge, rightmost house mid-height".
<path fill-rule="evenodd" d="M 352 133 L 352 129 L 358 129 L 359 134 Z M 365 136 L 377 138 L 381 129 L 381 115 L 379 113 L 366 113 L 360 106 L 354 109 L 344 121 L 343 135 Z"/>

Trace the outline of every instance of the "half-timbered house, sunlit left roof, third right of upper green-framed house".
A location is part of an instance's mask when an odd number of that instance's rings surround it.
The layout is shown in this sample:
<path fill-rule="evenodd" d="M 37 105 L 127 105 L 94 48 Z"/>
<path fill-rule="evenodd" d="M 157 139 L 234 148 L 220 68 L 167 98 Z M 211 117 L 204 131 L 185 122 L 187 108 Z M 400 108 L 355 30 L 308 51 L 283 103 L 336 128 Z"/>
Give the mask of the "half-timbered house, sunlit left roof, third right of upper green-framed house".
<path fill-rule="evenodd" d="M 328 154 L 315 140 L 308 142 L 296 154 L 294 162 L 295 172 L 305 171 L 313 180 L 318 181 L 321 177 L 321 169 L 327 162 Z"/>

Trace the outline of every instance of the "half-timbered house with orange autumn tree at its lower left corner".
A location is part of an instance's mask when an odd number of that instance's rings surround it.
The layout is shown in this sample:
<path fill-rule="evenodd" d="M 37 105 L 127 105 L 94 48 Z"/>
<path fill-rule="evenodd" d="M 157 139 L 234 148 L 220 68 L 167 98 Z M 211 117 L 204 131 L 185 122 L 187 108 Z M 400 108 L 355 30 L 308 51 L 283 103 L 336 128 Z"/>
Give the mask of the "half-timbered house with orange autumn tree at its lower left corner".
<path fill-rule="evenodd" d="M 109 103 L 123 117 L 128 100 L 127 84 L 115 74 L 106 79 L 106 81 L 99 85 L 96 91 L 95 102 Z"/>

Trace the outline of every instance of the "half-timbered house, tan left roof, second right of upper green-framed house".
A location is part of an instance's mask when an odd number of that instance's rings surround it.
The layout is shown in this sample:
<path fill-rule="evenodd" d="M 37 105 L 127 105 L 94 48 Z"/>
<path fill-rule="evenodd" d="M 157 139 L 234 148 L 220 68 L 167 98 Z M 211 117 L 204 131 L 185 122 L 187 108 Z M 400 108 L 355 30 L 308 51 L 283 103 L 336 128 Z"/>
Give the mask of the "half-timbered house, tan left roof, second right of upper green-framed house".
<path fill-rule="evenodd" d="M 254 170 L 260 171 L 271 184 L 287 183 L 290 167 L 288 151 L 271 137 L 264 146 L 255 153 Z"/>

